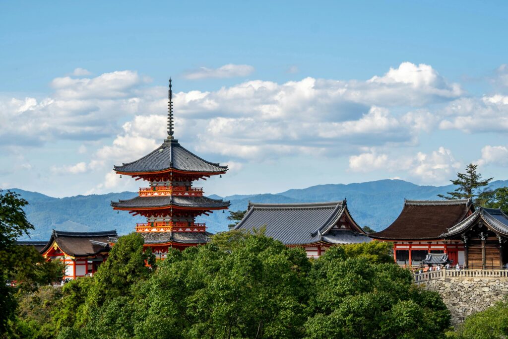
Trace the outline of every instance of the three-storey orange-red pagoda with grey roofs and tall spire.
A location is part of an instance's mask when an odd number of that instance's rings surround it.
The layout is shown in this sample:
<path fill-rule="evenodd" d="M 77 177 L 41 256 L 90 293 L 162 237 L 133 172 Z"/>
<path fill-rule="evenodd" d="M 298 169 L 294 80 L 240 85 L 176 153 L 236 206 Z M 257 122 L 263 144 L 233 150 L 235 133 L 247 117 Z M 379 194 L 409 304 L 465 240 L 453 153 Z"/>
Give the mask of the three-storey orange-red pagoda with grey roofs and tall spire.
<path fill-rule="evenodd" d="M 183 250 L 210 241 L 206 225 L 196 223 L 199 215 L 214 210 L 228 209 L 230 202 L 203 196 L 203 189 L 194 187 L 194 181 L 206 180 L 212 175 L 225 174 L 228 166 L 208 162 L 183 148 L 173 137 L 173 92 L 171 79 L 168 91 L 168 137 L 157 149 L 143 158 L 121 166 L 114 171 L 130 175 L 136 180 L 149 182 L 139 189 L 137 197 L 111 202 L 115 210 L 126 210 L 132 215 L 143 215 L 146 223 L 137 224 L 136 232 L 145 239 L 157 258 L 165 258 L 168 248 Z"/>

